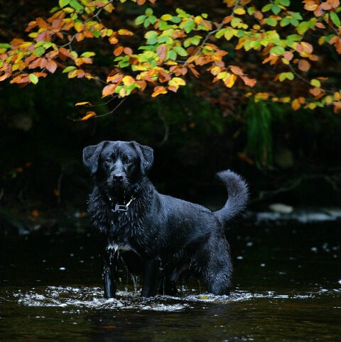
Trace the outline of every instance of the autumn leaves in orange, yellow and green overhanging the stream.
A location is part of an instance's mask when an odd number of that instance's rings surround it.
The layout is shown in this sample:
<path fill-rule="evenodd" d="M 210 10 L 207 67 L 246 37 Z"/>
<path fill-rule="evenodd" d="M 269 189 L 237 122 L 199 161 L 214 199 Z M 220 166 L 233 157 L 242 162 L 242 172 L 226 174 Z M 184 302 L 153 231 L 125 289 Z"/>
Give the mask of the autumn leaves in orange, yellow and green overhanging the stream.
<path fill-rule="evenodd" d="M 120 21 L 131 2 L 139 11 Z M 135 92 L 161 96 L 205 79 L 234 98 L 340 112 L 333 69 L 341 54 L 340 1 L 304 0 L 298 10 L 290 0 L 259 4 L 223 0 L 217 15 L 158 13 L 156 0 L 59 0 L 49 18 L 28 24 L 30 40 L 0 44 L 0 81 L 36 84 L 61 69 L 69 78 L 102 82 L 102 97 L 123 99 Z M 96 57 L 104 44 L 114 63 L 102 72 Z M 82 119 L 96 115 L 87 111 Z"/>

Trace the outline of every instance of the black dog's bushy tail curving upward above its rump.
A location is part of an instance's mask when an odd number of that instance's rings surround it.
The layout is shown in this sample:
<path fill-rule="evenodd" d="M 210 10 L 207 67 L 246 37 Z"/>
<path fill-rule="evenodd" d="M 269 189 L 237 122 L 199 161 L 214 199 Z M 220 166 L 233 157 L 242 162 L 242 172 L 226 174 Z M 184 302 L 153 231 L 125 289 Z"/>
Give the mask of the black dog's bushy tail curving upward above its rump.
<path fill-rule="evenodd" d="M 229 221 L 243 213 L 249 199 L 249 189 L 247 182 L 231 170 L 219 172 L 217 176 L 226 185 L 229 197 L 224 207 L 214 214 L 217 215 L 222 226 L 227 228 Z"/>

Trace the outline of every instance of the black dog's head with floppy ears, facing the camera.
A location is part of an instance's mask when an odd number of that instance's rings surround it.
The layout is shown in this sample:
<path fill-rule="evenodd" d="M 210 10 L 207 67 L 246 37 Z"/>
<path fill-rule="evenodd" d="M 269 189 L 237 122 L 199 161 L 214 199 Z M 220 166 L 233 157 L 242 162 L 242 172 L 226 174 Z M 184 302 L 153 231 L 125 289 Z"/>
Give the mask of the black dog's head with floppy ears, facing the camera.
<path fill-rule="evenodd" d="M 153 165 L 153 149 L 135 141 L 102 141 L 83 150 L 94 182 L 109 194 L 128 194 Z"/>

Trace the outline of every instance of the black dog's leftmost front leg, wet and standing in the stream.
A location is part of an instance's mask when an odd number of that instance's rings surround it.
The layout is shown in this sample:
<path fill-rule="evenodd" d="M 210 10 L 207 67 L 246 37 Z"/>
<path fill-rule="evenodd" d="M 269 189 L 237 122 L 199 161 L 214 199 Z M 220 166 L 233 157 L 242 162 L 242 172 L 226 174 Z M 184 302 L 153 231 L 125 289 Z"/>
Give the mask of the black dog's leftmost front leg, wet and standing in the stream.
<path fill-rule="evenodd" d="M 117 288 L 117 257 L 118 251 L 104 250 L 102 252 L 102 277 L 104 298 L 114 298 Z"/>

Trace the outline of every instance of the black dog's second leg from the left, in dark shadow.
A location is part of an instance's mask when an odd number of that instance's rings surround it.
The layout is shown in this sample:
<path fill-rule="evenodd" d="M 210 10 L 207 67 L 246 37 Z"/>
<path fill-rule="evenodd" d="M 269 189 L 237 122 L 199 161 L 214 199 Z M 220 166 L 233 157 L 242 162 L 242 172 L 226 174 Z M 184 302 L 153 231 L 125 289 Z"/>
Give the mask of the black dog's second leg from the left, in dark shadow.
<path fill-rule="evenodd" d="M 154 297 L 158 293 L 160 267 L 161 261 L 158 259 L 144 260 L 144 282 L 141 297 Z"/>

